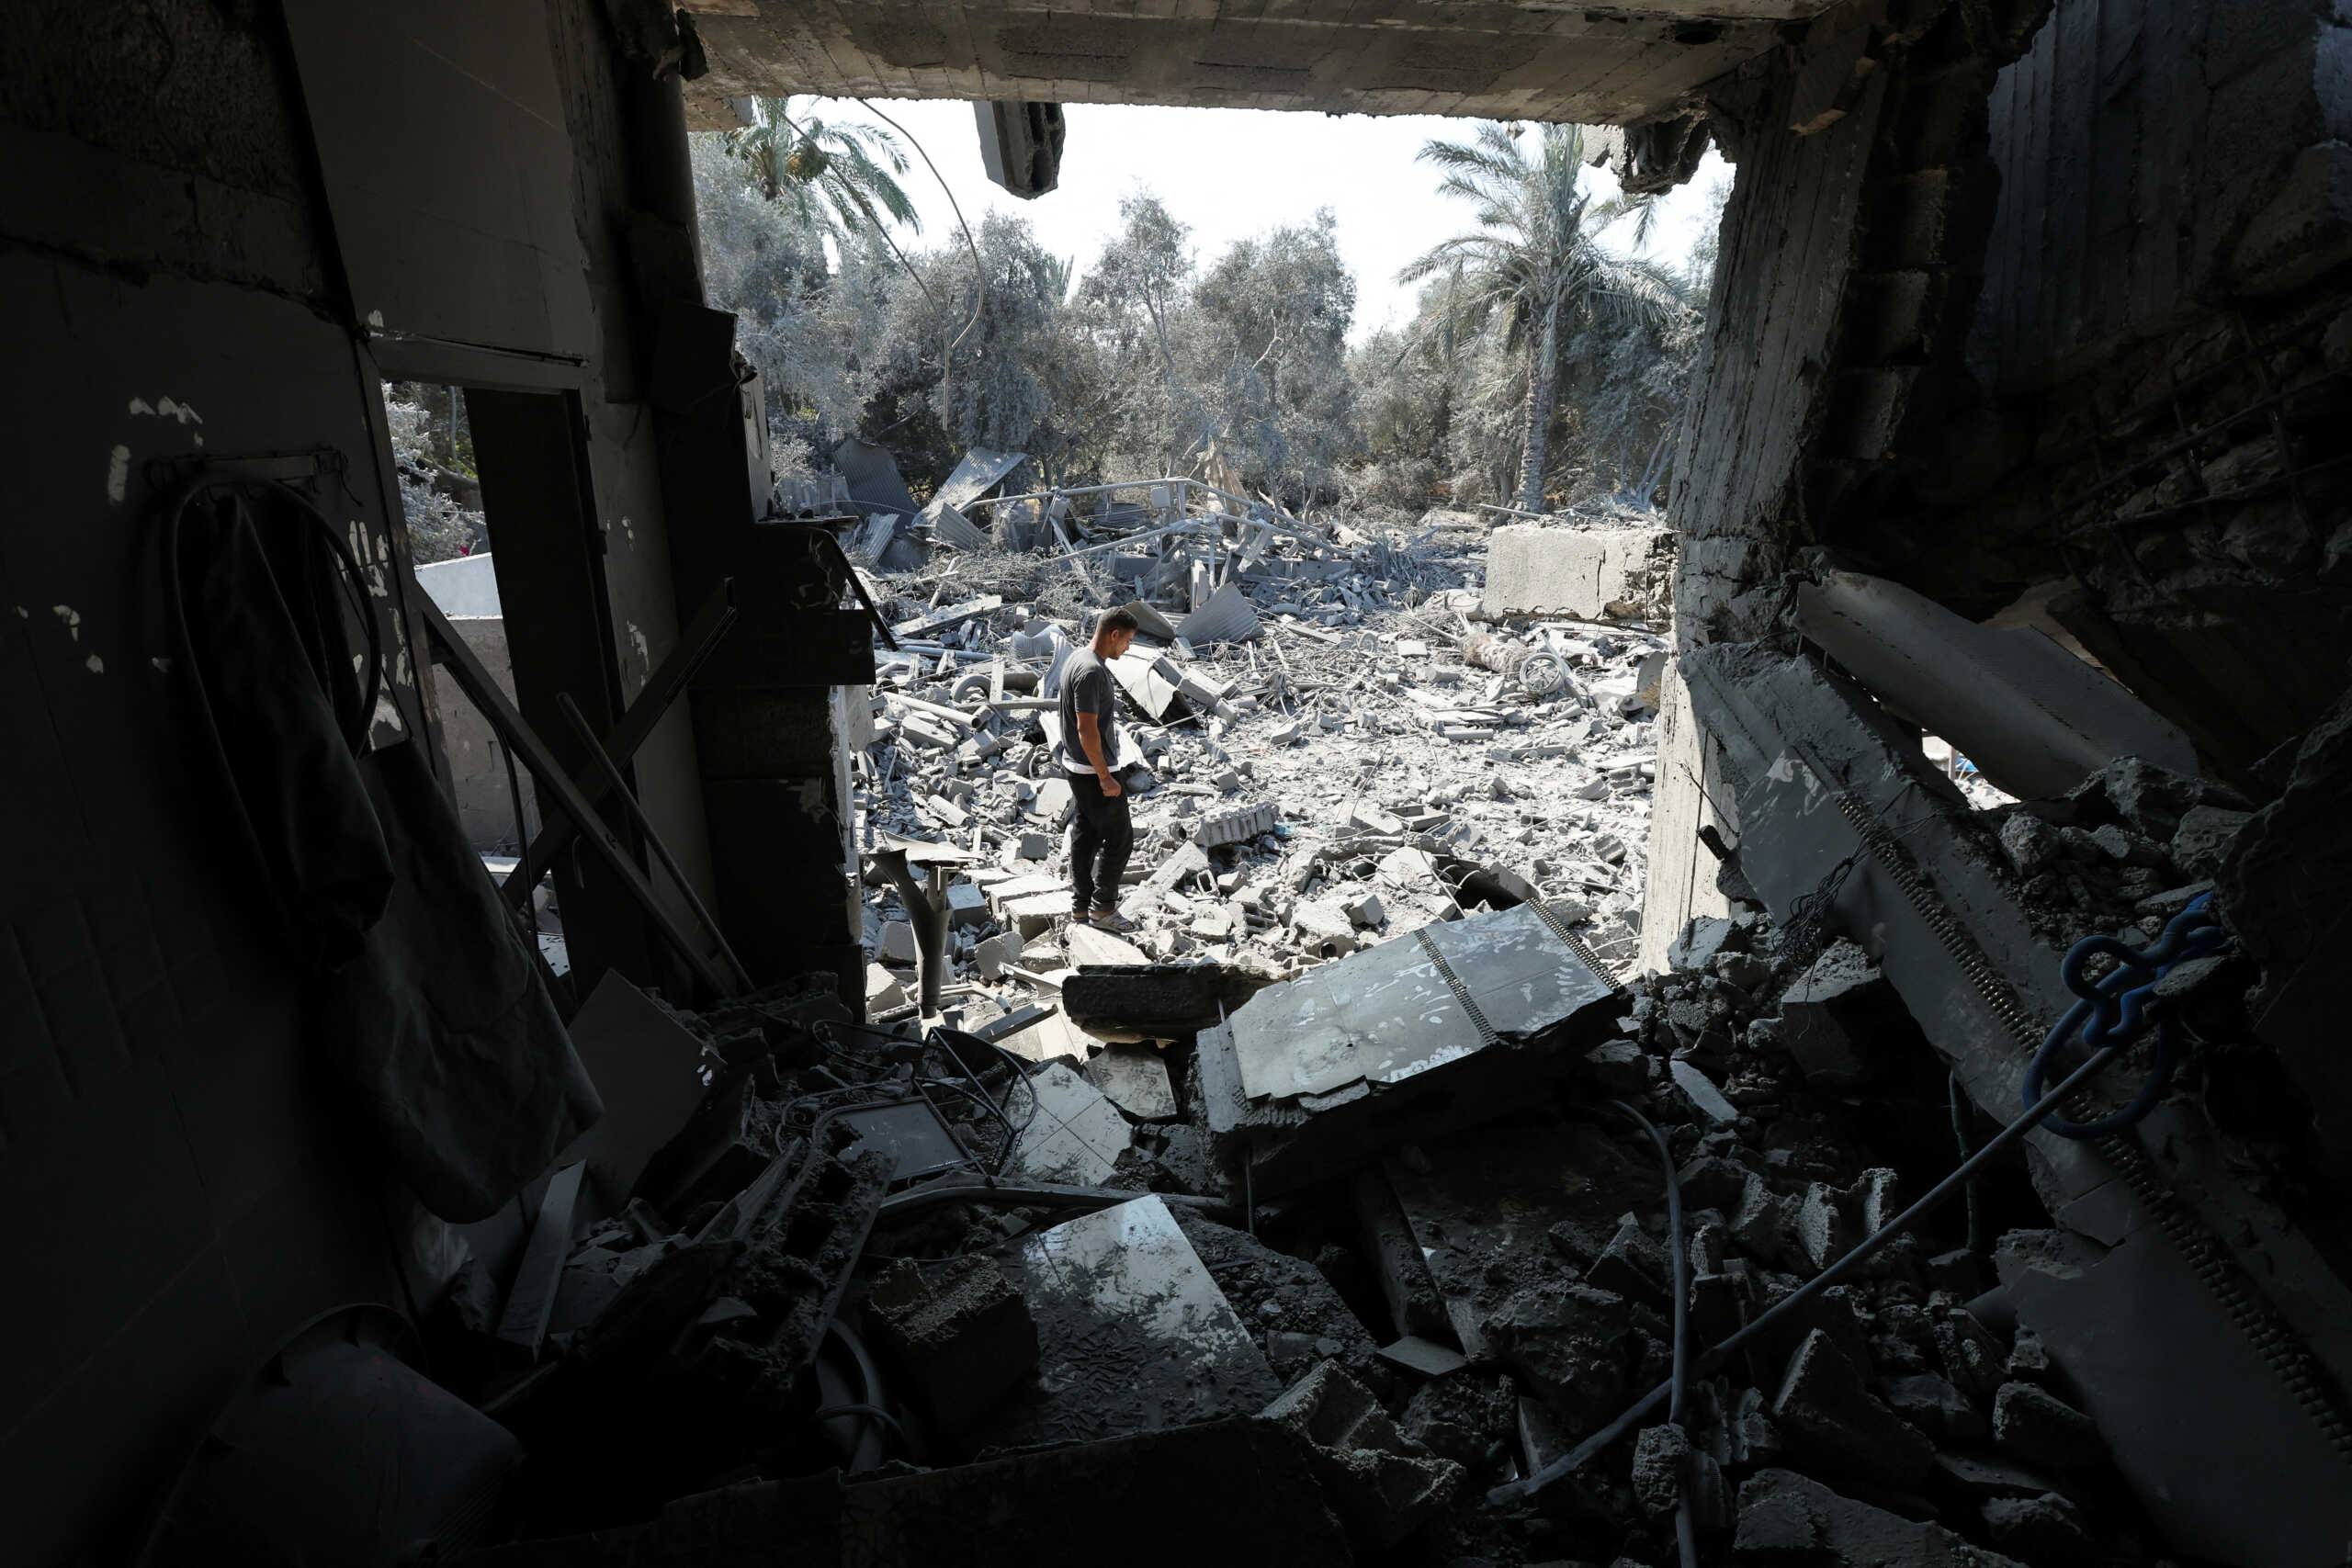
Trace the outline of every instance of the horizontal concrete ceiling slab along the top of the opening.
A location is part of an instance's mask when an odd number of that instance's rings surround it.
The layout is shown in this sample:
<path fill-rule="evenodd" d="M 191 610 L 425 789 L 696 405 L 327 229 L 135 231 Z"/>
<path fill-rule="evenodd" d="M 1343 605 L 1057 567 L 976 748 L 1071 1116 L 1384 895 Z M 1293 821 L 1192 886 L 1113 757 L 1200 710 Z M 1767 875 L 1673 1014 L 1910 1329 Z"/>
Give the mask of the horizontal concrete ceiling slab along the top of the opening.
<path fill-rule="evenodd" d="M 816 92 L 1635 125 L 1832 2 L 706 0 L 687 115 L 724 129 L 727 99 Z"/>

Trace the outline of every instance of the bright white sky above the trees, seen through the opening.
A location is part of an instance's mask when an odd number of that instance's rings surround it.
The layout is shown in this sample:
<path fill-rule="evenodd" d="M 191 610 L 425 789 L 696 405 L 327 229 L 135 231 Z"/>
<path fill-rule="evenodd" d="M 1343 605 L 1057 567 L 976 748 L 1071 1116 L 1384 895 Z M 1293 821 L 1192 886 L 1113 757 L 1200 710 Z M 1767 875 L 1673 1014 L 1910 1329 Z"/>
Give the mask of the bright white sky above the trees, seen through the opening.
<path fill-rule="evenodd" d="M 1143 108 L 1070 103 L 1070 139 L 1061 155 L 1061 186 L 1023 202 L 988 181 L 981 134 L 969 103 L 882 101 L 938 165 L 974 228 L 983 212 L 1025 219 L 1058 256 L 1075 256 L 1084 273 L 1120 228 L 1120 197 L 1152 190 L 1176 221 L 1192 228 L 1195 261 L 1209 266 L 1235 240 L 1282 223 L 1303 223 L 1317 207 L 1338 216 L 1338 247 L 1355 270 L 1352 341 L 1414 310 L 1414 289 L 1397 284 L 1397 268 L 1437 240 L 1472 226 L 1468 202 L 1437 195 L 1437 169 L 1414 162 L 1432 136 L 1461 139 L 1468 120 L 1425 115 L 1317 115 L 1258 108 Z M 866 118 L 856 103 L 833 101 L 823 118 Z M 957 237 L 955 212 L 938 181 L 913 160 L 906 190 L 922 214 L 924 244 Z M 1661 202 L 1646 254 L 1684 263 L 1708 221 L 1705 190 L 1731 167 L 1712 148 L 1698 176 Z M 1613 190 L 1606 169 L 1592 169 L 1599 190 Z"/>

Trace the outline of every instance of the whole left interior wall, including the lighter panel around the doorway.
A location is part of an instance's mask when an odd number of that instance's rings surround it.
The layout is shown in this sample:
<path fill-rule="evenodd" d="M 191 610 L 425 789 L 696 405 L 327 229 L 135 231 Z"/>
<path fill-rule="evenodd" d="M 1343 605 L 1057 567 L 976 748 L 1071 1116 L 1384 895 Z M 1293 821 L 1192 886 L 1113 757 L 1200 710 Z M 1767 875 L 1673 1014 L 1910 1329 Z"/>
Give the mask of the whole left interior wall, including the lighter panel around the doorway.
<path fill-rule="evenodd" d="M 120 1561 L 270 1345 L 339 1302 L 405 1305 L 390 1265 L 405 1199 L 379 1190 L 336 1117 L 320 1072 L 334 1037 L 299 1018 L 181 759 L 181 701 L 155 663 L 169 658 L 153 555 L 167 475 L 151 458 L 334 449 L 346 468 L 320 501 L 360 529 L 397 604 L 379 374 L 400 353 L 459 353 L 468 374 L 445 381 L 520 378 L 579 409 L 581 531 L 609 604 L 586 635 L 609 644 L 623 701 L 675 639 L 637 374 L 626 71 L 602 7 L 318 7 L 407 49 L 362 61 L 376 118 L 360 136 L 409 179 L 339 188 L 313 118 L 350 99 L 306 75 L 289 26 L 303 9 L 12 7 L 0 54 L 0 334 L 19 367 L 0 393 L 7 1563 Z M 541 68 L 522 80 L 532 49 Z M 428 56 L 430 92 L 381 96 Z M 485 200 L 482 179 L 513 200 Z M 416 242 L 433 221 L 496 233 L 517 216 L 527 228 L 489 249 Z M 407 235 L 397 268 L 350 268 L 388 233 Z M 355 306 L 346 277 L 395 287 Z M 435 317 L 435 299 L 473 313 Z M 637 778 L 708 875 L 684 712 Z"/>

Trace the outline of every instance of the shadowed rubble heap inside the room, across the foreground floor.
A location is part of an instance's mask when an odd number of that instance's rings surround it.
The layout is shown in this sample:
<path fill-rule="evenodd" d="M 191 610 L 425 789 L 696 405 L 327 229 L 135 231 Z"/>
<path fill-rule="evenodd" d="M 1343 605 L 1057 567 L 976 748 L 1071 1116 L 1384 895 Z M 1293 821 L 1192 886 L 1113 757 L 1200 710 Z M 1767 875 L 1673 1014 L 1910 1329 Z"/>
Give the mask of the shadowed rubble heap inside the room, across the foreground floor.
<path fill-rule="evenodd" d="M 480 1265 L 452 1291 L 440 1328 L 468 1349 L 442 1366 L 475 1368 L 461 1392 L 532 1455 L 522 1540 L 480 1561 L 821 1537 L 835 1526 L 795 1502 L 821 1472 L 851 1514 L 866 1486 L 950 1495 L 981 1474 L 1009 1507 L 1051 1507 L 1110 1455 L 1202 1483 L 1296 1467 L 1327 1523 L 1282 1528 L 1319 1542 L 1310 1561 L 1670 1563 L 1684 1500 L 1703 1561 L 2157 1561 L 2082 1394 L 1992 1288 L 1994 1229 L 2039 1218 L 2023 1168 L 1698 1378 L 1679 1427 L 1637 1425 L 1517 1495 L 1672 1371 L 1665 1173 L 1618 1103 L 1672 1150 L 1693 1354 L 1990 1131 L 1955 1126 L 1853 943 L 1748 912 L 1693 922 L 1675 964 L 1595 978 L 1566 1023 L 1484 1046 L 1522 1084 L 1503 1112 L 1451 1133 L 1406 1117 L 1275 1194 L 1214 1110 L 1223 1025 L 1037 1063 L 915 1020 L 856 1027 L 826 976 L 703 1016 L 607 980 L 593 1006 L 691 1037 L 708 1086 L 633 1190 L 574 1175 L 612 1218 L 560 1269 L 534 1237 L 503 1305 Z M 1279 1016 L 1294 985 L 1235 1023 Z M 555 1204 L 541 1225 L 572 1225 Z M 522 1342 L 534 1267 L 548 1305 Z M 1063 1465 L 1002 1469 L 1040 1443 Z"/>

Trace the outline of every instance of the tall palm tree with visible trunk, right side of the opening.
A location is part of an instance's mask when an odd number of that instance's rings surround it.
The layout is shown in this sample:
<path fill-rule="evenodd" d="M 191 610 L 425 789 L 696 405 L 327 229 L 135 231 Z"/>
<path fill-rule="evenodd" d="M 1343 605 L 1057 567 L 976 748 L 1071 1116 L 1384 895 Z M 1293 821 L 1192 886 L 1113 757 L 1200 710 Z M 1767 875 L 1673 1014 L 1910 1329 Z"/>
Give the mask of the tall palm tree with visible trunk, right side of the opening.
<path fill-rule="evenodd" d="M 1503 343 L 1526 360 L 1526 440 L 1519 458 L 1519 510 L 1543 510 L 1545 442 L 1559 402 L 1559 343 L 1578 317 L 1628 324 L 1656 322 L 1679 301 L 1675 280 L 1658 266 L 1613 256 L 1599 235 L 1632 219 L 1635 244 L 1646 237 L 1646 195 L 1595 200 L 1578 181 L 1585 167 L 1581 125 L 1538 125 L 1534 153 L 1519 129 L 1484 122 L 1470 141 L 1430 141 L 1421 160 L 1446 172 L 1437 183 L 1477 212 L 1477 230 L 1439 240 L 1411 261 L 1397 282 L 1454 273 L 1444 329 L 1479 329 L 1505 313 Z"/>

